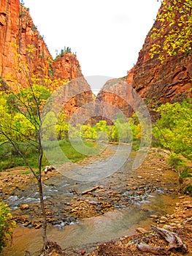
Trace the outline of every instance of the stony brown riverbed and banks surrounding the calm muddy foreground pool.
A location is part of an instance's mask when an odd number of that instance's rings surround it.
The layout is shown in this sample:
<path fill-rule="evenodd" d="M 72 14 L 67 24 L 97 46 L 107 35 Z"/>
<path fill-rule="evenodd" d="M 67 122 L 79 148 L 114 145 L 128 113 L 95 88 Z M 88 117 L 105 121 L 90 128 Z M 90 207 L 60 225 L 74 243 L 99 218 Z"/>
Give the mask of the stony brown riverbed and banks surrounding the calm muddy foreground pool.
<path fill-rule="evenodd" d="M 166 152 L 152 148 L 145 162 L 137 170 L 131 170 L 134 154 L 131 154 L 117 173 L 113 173 L 102 181 L 76 182 L 64 177 L 57 170 L 44 173 L 42 180 L 48 222 L 63 229 L 66 225 L 79 222 L 80 219 L 99 217 L 107 212 L 124 211 L 131 207 L 141 208 L 155 225 L 169 225 L 172 230 L 183 232 L 181 236 L 185 238 L 185 243 L 189 244 L 190 252 L 191 245 L 188 238 L 191 238 L 191 197 L 185 198 L 186 196 L 183 195 L 177 197 L 180 193 L 177 175 L 172 167 L 166 164 Z M 107 157 L 106 152 L 103 157 Z M 95 159 L 89 159 L 81 165 L 89 165 L 94 161 Z M 0 192 L 1 197 L 11 206 L 13 217 L 18 225 L 39 229 L 42 226 L 42 215 L 37 186 L 34 183 L 31 173 L 28 173 L 26 168 L 18 167 L 1 173 Z M 159 194 L 164 195 L 165 200 L 172 195 L 177 197 L 176 208 L 174 206 L 170 208 L 169 202 L 161 210 L 158 209 L 158 212 L 153 207 L 147 206 L 151 198 Z M 67 255 L 151 255 L 140 252 L 137 249 L 138 243 L 134 241 L 143 236 L 150 236 L 151 243 L 155 244 L 155 241 L 161 241 L 161 239 L 156 235 L 153 236 L 148 229 L 145 230 L 146 232 L 142 229 L 138 231 L 142 235 L 115 239 L 102 244 L 91 254 L 90 249 L 86 250 L 86 248 L 66 249 L 66 253 Z M 128 254 L 129 251 L 130 254 Z M 175 253 L 177 255 L 177 252 Z"/>

